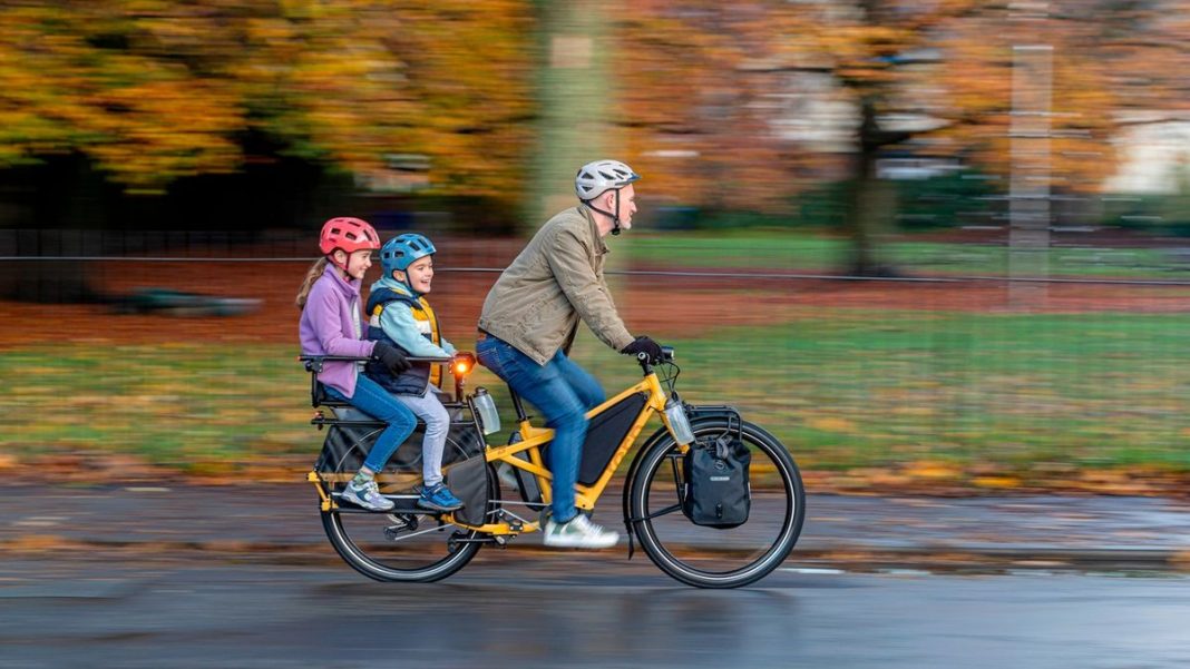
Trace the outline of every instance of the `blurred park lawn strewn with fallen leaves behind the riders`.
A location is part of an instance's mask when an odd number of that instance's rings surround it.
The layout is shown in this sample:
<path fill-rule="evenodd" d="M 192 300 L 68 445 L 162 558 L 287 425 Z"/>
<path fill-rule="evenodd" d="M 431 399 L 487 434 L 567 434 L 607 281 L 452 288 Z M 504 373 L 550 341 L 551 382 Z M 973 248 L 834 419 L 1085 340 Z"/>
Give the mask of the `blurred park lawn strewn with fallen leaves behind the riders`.
<path fill-rule="evenodd" d="M 820 468 L 931 462 L 945 474 L 953 462 L 989 481 L 1022 468 L 1190 468 L 1190 282 L 1176 248 L 1058 248 L 1056 276 L 1010 280 L 989 271 L 996 245 L 944 244 L 902 250 L 903 276 L 869 279 L 828 273 L 833 257 L 807 260 L 821 245 L 775 239 L 744 236 L 729 253 L 696 235 L 609 242 L 621 315 L 677 347 L 688 400 L 739 405 Z M 308 240 L 0 234 L 8 280 L 52 284 L 44 269 L 69 267 L 92 297 L 0 302 L 0 366 L 17 389 L 5 414 L 20 416 L 4 438 L 18 449 L 156 440 L 176 444 L 156 454 L 169 461 L 308 450 L 317 437 L 298 418 L 307 385 L 292 359 Z M 524 240 L 440 240 L 431 301 L 446 336 L 471 348 L 483 297 Z M 118 360 L 96 362 L 73 395 L 63 379 L 112 351 Z M 589 334 L 574 355 L 609 392 L 639 374 Z M 499 389 L 482 370 L 474 383 Z"/>

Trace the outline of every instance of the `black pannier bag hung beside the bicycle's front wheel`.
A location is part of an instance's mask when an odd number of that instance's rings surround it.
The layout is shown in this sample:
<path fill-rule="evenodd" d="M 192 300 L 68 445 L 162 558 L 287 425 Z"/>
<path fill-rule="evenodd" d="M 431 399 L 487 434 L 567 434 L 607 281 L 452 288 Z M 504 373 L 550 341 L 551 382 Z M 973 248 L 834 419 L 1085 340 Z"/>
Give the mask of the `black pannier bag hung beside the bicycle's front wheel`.
<path fill-rule="evenodd" d="M 682 460 L 682 512 L 695 525 L 728 529 L 747 522 L 752 507 L 749 465 L 752 453 L 739 431 L 727 429 L 690 444 Z"/>

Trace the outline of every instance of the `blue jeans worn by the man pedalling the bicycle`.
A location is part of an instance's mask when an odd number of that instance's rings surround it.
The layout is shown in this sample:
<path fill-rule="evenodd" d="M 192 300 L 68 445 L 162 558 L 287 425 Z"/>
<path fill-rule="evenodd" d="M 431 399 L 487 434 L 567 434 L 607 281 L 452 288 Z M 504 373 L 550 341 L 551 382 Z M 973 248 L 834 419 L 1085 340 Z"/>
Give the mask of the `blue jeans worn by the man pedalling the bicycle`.
<path fill-rule="evenodd" d="M 574 518 L 575 484 L 587 438 L 587 411 L 603 403 L 603 389 L 585 370 L 562 351 L 545 365 L 513 348 L 508 342 L 484 335 L 475 347 L 484 367 L 503 379 L 513 392 L 545 415 L 546 427 L 553 428 L 553 441 L 546 450 L 553 475 L 551 501 L 556 523 Z"/>

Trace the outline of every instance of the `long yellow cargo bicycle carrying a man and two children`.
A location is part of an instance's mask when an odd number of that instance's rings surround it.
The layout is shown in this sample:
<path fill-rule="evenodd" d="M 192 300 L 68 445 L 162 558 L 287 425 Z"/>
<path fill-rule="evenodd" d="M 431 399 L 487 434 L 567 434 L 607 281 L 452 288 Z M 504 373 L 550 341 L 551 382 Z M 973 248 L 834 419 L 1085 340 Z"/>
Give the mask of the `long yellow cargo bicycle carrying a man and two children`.
<path fill-rule="evenodd" d="M 466 506 L 453 513 L 415 506 L 414 486 L 421 481 L 420 425 L 377 474 L 381 493 L 395 503 L 392 511 L 339 503 L 343 487 L 384 425 L 330 402 L 317 380 L 324 361 L 362 359 L 301 360 L 311 372 L 313 405 L 333 411 L 319 410 L 312 421 L 319 429 L 327 428 L 327 436 L 308 480 L 318 491 L 327 538 L 352 568 L 378 581 L 437 581 L 462 569 L 482 547 L 503 547 L 541 529 L 540 512 L 551 499 L 546 459 L 553 430 L 534 425 L 520 398 L 511 393 L 516 429 L 508 443 L 488 443 L 486 438 L 500 431 L 500 419 L 484 389 L 464 392 L 474 358 L 420 359 L 449 365 L 455 377 L 453 397 L 443 396 L 453 416 L 443 468 Z M 756 582 L 785 560 L 801 532 L 806 493 L 794 459 L 776 437 L 743 419 L 735 409 L 681 402 L 675 387 L 679 370 L 671 348 L 662 360 L 641 355 L 638 362 L 643 379 L 587 414 L 590 427 L 576 505 L 582 512 L 594 511 L 645 425 L 659 417 L 662 425 L 644 440 L 624 476 L 630 558 L 635 539 L 657 567 L 684 583 L 732 588 Z M 722 453 L 728 442 L 746 449 L 751 511 L 745 522 L 700 524 L 691 512 L 690 456 L 699 449 L 714 453 L 716 446 Z M 710 461 L 718 462 L 713 456 Z M 515 497 L 506 499 L 502 488 L 511 488 Z"/>

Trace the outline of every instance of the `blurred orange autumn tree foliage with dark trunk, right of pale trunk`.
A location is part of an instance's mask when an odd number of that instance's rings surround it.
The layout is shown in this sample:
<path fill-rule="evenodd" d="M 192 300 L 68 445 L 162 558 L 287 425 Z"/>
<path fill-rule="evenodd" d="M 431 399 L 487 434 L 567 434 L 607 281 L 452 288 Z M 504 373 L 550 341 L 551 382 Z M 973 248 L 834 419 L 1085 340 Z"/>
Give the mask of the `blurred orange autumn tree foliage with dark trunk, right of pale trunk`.
<path fill-rule="evenodd" d="M 1184 0 L 634 2 L 621 19 L 620 124 L 650 191 L 788 213 L 810 182 L 851 184 L 845 271 L 894 272 L 892 146 L 1010 169 L 1012 50 L 1053 48 L 1052 188 L 1096 190 L 1123 112 L 1185 109 Z"/>

